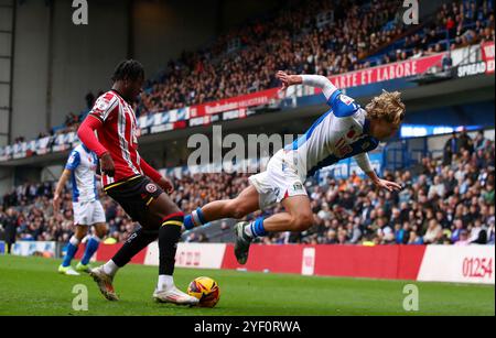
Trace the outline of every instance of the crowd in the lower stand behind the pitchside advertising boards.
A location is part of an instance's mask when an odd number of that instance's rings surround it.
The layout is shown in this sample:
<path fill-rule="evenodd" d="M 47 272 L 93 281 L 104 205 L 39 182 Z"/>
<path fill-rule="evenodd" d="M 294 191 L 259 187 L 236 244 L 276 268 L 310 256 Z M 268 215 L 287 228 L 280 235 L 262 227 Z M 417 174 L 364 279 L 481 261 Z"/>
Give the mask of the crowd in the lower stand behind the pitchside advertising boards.
<path fill-rule="evenodd" d="M 446 156 L 449 159 L 446 159 Z M 303 233 L 277 233 L 265 243 L 322 244 L 494 244 L 495 143 L 483 133 L 472 140 L 453 135 L 444 159 L 425 157 L 408 171 L 386 172 L 401 182 L 400 193 L 377 190 L 368 179 L 353 175 L 324 184 L 306 184 L 314 210 L 314 227 Z M 175 181 L 174 201 L 190 212 L 212 200 L 235 197 L 247 175 L 198 174 Z M 53 183 L 25 184 L 2 198 L 0 225 L 17 227 L 18 239 L 66 242 L 73 231 L 72 198 L 65 192 L 61 212 L 52 208 Z M 110 228 L 108 242 L 126 240 L 136 225 L 110 198 L 104 196 Z M 278 206 L 265 215 L 281 211 Z M 250 217 L 257 217 L 254 214 Z M 250 218 L 250 219 L 251 219 Z M 227 230 L 227 229 L 226 229 Z M 208 232 L 186 241 L 207 241 Z"/>

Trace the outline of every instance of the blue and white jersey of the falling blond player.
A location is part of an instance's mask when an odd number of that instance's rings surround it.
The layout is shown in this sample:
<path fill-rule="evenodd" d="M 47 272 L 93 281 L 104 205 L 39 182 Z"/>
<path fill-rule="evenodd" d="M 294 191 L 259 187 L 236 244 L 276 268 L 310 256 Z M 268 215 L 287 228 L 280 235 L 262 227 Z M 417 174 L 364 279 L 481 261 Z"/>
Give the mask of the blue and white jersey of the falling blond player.
<path fill-rule="evenodd" d="M 379 141 L 368 134 L 366 111 L 335 87 L 330 91 L 327 105 L 331 109 L 285 148 L 287 153 L 292 153 L 299 175 L 313 176 L 319 170 L 348 157 L 354 157 L 364 172 L 373 171 L 367 152 L 375 150 Z"/>

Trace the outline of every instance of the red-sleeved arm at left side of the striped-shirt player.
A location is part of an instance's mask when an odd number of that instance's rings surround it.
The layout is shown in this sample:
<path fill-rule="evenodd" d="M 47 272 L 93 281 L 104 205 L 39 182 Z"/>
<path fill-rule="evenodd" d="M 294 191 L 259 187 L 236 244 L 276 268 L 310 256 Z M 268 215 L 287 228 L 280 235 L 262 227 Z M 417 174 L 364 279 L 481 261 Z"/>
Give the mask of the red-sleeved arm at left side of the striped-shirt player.
<path fill-rule="evenodd" d="M 90 151 L 93 151 L 98 156 L 98 159 L 100 159 L 101 172 L 110 177 L 114 177 L 116 167 L 114 164 L 114 160 L 110 156 L 110 152 L 98 141 L 97 137 L 95 135 L 95 130 L 98 130 L 100 127 L 100 120 L 93 116 L 88 116 L 77 130 L 77 137 Z"/>

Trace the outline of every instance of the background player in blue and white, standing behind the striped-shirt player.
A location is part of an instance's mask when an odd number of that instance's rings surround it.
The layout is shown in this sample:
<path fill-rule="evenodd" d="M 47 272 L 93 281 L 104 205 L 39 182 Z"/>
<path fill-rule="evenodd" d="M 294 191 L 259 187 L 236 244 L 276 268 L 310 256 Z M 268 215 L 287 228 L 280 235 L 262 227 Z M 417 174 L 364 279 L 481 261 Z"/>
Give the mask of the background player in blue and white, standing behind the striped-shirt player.
<path fill-rule="evenodd" d="M 89 271 L 89 260 L 98 250 L 100 240 L 107 235 L 108 228 L 105 219 L 104 208 L 98 200 L 96 168 L 98 159 L 84 144 L 76 146 L 71 153 L 65 170 L 55 188 L 53 206 L 57 212 L 61 196 L 67 181 L 71 179 L 73 187 L 73 210 L 75 232 L 67 244 L 67 253 L 58 272 L 67 275 L 78 275 L 79 272 Z M 75 271 L 71 261 L 77 252 L 79 243 L 88 235 L 89 227 L 95 228 L 95 235 L 89 237 L 86 251 Z"/>

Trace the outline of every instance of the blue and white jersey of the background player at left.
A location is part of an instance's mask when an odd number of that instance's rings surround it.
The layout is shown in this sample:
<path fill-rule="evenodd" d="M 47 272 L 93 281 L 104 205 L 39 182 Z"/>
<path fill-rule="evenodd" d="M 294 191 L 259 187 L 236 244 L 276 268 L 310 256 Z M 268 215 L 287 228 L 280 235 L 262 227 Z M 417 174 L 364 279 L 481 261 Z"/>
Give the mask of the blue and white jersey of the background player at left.
<path fill-rule="evenodd" d="M 73 201 L 86 203 L 98 199 L 96 168 L 97 155 L 84 144 L 76 146 L 65 165 L 72 172 Z"/>

